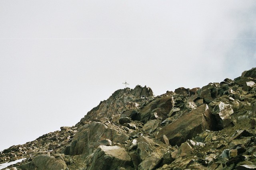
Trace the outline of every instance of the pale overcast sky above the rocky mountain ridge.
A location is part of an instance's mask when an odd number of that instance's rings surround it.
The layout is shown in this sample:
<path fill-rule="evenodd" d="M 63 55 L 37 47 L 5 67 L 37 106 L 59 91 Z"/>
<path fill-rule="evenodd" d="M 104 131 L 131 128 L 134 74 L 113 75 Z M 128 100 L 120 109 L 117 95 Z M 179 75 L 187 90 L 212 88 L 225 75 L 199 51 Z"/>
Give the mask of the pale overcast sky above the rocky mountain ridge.
<path fill-rule="evenodd" d="M 124 88 L 160 95 L 256 67 L 255 0 L 0 0 L 0 150 Z"/>

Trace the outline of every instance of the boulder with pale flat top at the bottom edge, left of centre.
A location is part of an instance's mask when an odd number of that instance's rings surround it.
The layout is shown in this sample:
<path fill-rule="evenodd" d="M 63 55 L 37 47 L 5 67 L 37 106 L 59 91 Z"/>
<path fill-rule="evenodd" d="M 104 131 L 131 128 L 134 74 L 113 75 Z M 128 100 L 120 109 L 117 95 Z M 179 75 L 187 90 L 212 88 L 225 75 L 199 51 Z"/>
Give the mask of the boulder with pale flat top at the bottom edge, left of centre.
<path fill-rule="evenodd" d="M 118 146 L 100 145 L 90 160 L 88 170 L 116 170 L 120 168 L 132 168 L 133 163 L 129 154 Z"/>

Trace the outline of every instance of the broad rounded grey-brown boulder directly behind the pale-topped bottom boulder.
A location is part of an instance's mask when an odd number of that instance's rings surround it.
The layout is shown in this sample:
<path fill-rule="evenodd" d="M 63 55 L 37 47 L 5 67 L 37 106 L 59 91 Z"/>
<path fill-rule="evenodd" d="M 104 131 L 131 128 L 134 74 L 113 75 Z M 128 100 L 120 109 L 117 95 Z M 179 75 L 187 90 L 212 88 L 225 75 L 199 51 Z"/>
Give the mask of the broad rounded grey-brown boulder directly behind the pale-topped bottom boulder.
<path fill-rule="evenodd" d="M 113 143 L 124 143 L 128 138 L 129 136 L 125 134 L 125 131 L 118 131 L 100 122 L 92 122 L 81 127 L 78 133 L 74 135 L 66 154 L 89 155 L 101 145 L 101 141 L 104 139 L 109 139 Z"/>

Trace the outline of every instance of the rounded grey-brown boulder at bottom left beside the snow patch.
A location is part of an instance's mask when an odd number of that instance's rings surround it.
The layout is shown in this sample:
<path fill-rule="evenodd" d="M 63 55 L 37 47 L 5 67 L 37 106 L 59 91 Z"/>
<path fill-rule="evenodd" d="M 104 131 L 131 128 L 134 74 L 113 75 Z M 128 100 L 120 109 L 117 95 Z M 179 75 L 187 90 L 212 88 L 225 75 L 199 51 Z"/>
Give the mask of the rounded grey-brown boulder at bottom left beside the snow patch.
<path fill-rule="evenodd" d="M 60 158 L 42 154 L 36 156 L 30 163 L 23 164 L 17 168 L 22 170 L 67 170 L 67 165 Z"/>

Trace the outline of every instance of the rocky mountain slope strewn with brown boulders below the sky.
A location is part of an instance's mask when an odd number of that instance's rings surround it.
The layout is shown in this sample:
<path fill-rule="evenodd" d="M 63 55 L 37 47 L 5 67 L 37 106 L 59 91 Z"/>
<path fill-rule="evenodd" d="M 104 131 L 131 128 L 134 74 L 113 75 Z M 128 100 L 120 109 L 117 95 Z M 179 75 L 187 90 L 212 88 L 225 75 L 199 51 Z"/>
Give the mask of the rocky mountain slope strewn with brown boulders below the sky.
<path fill-rule="evenodd" d="M 154 96 L 117 90 L 73 127 L 0 154 L 11 170 L 256 169 L 256 68 Z M 1 169 L 1 165 L 0 165 Z"/>

